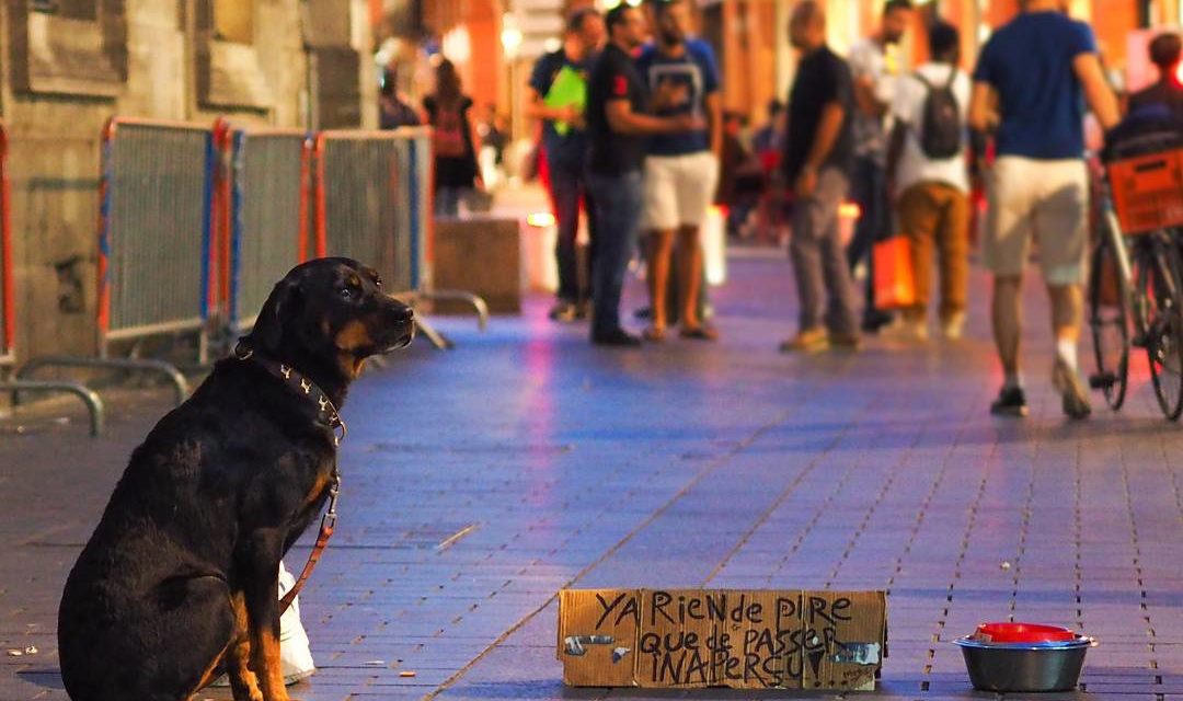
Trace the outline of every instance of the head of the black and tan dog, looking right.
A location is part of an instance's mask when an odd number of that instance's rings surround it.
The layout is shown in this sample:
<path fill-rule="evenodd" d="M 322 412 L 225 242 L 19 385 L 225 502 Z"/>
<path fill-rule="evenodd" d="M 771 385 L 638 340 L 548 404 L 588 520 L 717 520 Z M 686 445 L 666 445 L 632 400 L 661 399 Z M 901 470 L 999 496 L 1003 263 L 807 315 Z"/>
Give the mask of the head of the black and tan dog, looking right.
<path fill-rule="evenodd" d="M 318 258 L 276 284 L 247 339 L 297 368 L 334 366 L 349 381 L 366 358 L 406 348 L 414 333 L 414 312 L 382 290 L 374 268 Z"/>

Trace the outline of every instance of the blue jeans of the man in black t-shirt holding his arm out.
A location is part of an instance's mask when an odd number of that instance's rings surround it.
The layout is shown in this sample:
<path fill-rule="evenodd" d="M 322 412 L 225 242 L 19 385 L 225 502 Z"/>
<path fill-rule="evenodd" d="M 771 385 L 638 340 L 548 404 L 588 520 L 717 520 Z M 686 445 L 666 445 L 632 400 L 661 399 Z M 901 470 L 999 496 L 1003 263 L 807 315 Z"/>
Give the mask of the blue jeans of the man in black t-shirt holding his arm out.
<path fill-rule="evenodd" d="M 620 294 L 641 225 L 641 171 L 588 174 L 588 189 L 600 225 L 593 261 L 592 336 L 620 329 Z"/>

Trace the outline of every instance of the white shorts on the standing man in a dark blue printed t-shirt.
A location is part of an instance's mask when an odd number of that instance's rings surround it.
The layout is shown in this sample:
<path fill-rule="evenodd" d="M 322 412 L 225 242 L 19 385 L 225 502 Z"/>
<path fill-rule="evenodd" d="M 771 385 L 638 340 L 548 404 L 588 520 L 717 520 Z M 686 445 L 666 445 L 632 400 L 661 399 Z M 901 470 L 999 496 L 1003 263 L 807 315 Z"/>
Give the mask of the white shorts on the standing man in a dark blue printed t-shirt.
<path fill-rule="evenodd" d="M 644 229 L 702 226 L 715 200 L 719 161 L 711 151 L 645 158 Z"/>

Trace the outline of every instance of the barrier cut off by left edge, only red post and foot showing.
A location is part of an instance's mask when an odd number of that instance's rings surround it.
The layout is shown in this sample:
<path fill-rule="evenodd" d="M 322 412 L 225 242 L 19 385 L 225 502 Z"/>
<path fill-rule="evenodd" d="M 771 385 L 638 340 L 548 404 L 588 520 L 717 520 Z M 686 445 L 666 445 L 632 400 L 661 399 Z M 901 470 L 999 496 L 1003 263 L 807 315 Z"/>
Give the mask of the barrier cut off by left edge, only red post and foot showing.
<path fill-rule="evenodd" d="M 17 300 L 12 265 L 12 196 L 8 182 L 8 134 L 0 124 L 0 391 L 69 392 L 77 396 L 90 413 L 90 435 L 103 433 L 103 401 L 77 382 L 9 379 L 17 363 Z"/>

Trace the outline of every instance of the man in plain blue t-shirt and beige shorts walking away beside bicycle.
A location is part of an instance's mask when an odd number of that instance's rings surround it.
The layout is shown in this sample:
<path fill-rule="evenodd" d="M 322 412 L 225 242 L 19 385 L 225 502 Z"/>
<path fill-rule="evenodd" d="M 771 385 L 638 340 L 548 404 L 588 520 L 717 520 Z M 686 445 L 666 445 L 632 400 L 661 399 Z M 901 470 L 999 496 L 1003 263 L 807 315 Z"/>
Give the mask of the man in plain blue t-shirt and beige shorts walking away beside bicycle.
<path fill-rule="evenodd" d="M 1052 381 L 1072 418 L 1088 416 L 1077 369 L 1086 271 L 1088 175 L 1084 106 L 1107 131 L 1119 118 L 1088 25 L 1060 0 L 1022 0 L 1022 12 L 990 37 L 974 71 L 970 126 L 994 131 L 982 254 L 994 273 L 994 339 L 1006 379 L 990 413 L 1026 416 L 1019 374 L 1021 283 L 1032 240 L 1052 298 L 1056 353 Z"/>

